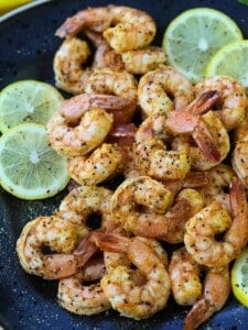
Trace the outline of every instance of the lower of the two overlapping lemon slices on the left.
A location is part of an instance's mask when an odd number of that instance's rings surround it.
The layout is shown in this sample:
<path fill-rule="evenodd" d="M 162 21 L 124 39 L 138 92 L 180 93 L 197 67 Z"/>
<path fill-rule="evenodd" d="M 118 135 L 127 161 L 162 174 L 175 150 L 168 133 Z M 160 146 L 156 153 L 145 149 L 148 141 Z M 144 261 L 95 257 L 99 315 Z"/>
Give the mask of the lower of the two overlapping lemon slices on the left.
<path fill-rule="evenodd" d="M 66 158 L 51 148 L 45 127 L 23 123 L 2 134 L 0 183 L 22 199 L 51 197 L 67 185 Z"/>

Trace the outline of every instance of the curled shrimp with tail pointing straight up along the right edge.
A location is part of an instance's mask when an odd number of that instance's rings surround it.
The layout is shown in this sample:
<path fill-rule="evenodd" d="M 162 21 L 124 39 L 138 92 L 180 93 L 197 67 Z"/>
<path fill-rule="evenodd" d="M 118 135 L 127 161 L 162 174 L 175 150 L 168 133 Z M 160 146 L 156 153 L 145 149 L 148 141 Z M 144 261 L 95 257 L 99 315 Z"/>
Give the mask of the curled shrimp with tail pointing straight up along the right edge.
<path fill-rule="evenodd" d="M 231 215 L 219 202 L 213 201 L 185 226 L 185 248 L 198 264 L 208 267 L 227 265 L 247 244 L 247 200 L 245 188 L 237 177 L 231 180 L 229 198 Z M 215 239 L 219 233 L 224 233 L 222 241 Z"/>

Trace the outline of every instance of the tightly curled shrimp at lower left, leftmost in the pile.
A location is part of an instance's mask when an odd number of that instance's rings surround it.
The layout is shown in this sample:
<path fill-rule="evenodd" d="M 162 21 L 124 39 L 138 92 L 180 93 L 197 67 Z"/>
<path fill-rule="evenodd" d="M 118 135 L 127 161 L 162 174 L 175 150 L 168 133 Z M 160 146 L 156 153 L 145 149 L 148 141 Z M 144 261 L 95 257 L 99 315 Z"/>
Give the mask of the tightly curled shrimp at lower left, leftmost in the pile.
<path fill-rule="evenodd" d="M 18 239 L 17 252 L 25 272 L 46 279 L 75 274 L 79 256 L 73 254 L 79 240 L 77 227 L 60 217 L 39 217 L 29 221 Z M 51 253 L 45 253 L 48 248 Z"/>

